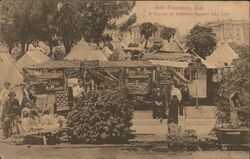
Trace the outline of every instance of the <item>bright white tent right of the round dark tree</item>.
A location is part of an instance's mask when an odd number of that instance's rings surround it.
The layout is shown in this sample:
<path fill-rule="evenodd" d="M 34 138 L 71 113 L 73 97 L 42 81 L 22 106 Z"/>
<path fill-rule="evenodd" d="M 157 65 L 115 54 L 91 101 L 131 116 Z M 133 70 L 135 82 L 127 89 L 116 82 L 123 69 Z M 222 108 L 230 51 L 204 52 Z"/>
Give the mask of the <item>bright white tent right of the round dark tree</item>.
<path fill-rule="evenodd" d="M 206 58 L 205 63 L 213 64 L 217 67 L 224 67 L 230 66 L 236 58 L 238 58 L 238 55 L 228 44 L 224 43 L 219 45 L 218 48 Z"/>

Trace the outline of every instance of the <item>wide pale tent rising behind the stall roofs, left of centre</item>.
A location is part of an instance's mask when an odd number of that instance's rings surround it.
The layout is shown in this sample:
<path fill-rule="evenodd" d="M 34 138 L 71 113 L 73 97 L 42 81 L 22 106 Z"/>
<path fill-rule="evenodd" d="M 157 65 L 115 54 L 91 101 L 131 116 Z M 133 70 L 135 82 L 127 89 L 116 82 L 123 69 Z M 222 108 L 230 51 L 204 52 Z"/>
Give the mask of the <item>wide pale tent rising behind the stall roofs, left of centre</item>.
<path fill-rule="evenodd" d="M 64 59 L 108 61 L 108 59 L 102 54 L 100 50 L 92 48 L 88 43 L 83 40 L 78 42 Z"/>

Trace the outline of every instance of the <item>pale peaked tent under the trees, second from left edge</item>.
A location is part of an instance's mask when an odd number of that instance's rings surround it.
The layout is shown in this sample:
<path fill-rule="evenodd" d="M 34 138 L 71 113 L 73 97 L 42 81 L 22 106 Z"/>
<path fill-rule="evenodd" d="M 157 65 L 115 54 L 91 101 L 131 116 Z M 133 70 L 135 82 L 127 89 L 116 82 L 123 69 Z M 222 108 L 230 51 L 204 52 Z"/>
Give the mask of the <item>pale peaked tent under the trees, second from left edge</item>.
<path fill-rule="evenodd" d="M 16 62 L 16 66 L 21 71 L 24 67 L 44 63 L 49 60 L 51 59 L 41 49 L 33 47 Z"/>

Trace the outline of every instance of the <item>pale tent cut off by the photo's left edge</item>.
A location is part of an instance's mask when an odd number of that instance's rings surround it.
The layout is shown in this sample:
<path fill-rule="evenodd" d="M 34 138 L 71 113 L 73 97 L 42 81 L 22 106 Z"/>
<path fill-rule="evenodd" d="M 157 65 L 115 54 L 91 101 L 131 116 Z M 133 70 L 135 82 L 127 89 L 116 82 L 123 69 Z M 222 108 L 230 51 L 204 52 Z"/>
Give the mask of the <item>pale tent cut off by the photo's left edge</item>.
<path fill-rule="evenodd" d="M 23 81 L 23 76 L 8 53 L 0 52 L 0 74 L 0 89 L 3 88 L 5 81 L 10 82 L 11 86 Z"/>

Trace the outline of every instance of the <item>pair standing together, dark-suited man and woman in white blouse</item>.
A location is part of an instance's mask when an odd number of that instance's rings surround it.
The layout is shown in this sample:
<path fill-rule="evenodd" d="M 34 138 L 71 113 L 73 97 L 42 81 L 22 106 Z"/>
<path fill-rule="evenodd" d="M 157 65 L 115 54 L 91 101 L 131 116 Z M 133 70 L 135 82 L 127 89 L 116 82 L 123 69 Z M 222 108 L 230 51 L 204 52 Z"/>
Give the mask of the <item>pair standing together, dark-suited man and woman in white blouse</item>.
<path fill-rule="evenodd" d="M 182 94 L 175 84 L 171 84 L 170 89 L 169 96 L 164 94 L 160 87 L 153 92 L 153 118 L 168 118 L 168 124 L 178 124 Z"/>

